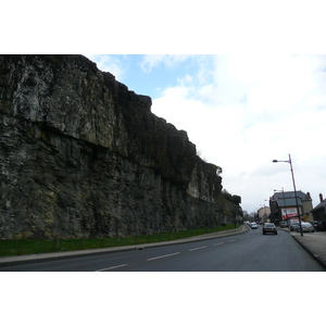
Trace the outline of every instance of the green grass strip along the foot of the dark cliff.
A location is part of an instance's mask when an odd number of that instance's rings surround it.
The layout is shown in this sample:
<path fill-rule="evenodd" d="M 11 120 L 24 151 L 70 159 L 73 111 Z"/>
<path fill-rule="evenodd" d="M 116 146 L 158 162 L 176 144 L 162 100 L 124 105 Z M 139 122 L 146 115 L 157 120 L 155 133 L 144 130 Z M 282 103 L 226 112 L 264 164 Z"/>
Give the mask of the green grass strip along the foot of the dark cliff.
<path fill-rule="evenodd" d="M 0 240 L 0 256 L 23 255 L 34 253 L 50 253 L 75 251 L 85 249 L 112 248 L 122 246 L 136 246 L 161 241 L 172 241 L 183 238 L 212 234 L 236 228 L 235 225 L 218 226 L 214 228 L 199 228 L 180 230 L 176 233 L 155 233 L 152 235 L 133 236 L 124 238 L 103 239 L 15 239 Z"/>

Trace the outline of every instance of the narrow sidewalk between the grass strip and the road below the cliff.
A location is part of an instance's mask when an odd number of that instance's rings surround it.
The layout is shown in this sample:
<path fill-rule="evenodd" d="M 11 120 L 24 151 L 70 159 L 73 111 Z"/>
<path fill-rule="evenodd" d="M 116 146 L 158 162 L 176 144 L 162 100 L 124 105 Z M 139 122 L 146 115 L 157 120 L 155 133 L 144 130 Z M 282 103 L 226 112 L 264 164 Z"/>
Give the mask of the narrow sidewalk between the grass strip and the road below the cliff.
<path fill-rule="evenodd" d="M 184 239 L 178 239 L 178 240 L 173 240 L 173 241 L 153 242 L 153 243 L 143 243 L 143 244 L 114 247 L 114 248 L 101 248 L 101 249 L 91 249 L 91 250 L 2 256 L 2 258 L 0 258 L 0 268 L 5 267 L 5 266 L 49 262 L 49 261 L 64 260 L 64 259 L 71 259 L 71 258 L 77 258 L 77 256 L 88 256 L 88 255 L 103 254 L 103 253 L 118 252 L 118 251 L 127 251 L 127 250 L 142 250 L 145 248 L 170 246 L 170 244 L 181 243 L 181 242 L 200 241 L 200 240 L 206 240 L 206 239 L 212 239 L 212 238 L 226 237 L 226 236 L 230 236 L 230 235 L 243 234 L 243 233 L 247 233 L 248 230 L 249 230 L 249 227 L 247 225 L 241 225 L 239 228 L 236 228 L 236 229 L 230 229 L 230 230 L 225 230 L 225 231 L 220 231 L 220 233 L 214 233 L 214 234 L 205 234 L 205 235 L 201 235 L 201 236 L 184 238 Z M 1 272 L 1 269 L 0 269 L 0 272 Z"/>

